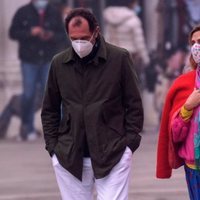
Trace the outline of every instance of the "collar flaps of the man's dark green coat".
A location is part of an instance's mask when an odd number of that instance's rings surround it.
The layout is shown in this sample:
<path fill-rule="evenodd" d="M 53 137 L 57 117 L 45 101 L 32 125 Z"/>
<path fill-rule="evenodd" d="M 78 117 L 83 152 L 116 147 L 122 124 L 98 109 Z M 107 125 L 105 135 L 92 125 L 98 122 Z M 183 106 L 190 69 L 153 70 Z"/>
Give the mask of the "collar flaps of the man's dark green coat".
<path fill-rule="evenodd" d="M 99 35 L 99 38 L 100 38 L 100 47 L 97 51 L 96 56 L 91 60 L 94 62 L 95 65 L 97 65 L 100 60 L 104 60 L 104 61 L 107 60 L 106 42 L 103 36 Z M 69 47 L 63 58 L 63 63 L 69 63 L 69 62 L 75 62 L 75 61 L 76 61 L 76 55 L 72 47 Z"/>

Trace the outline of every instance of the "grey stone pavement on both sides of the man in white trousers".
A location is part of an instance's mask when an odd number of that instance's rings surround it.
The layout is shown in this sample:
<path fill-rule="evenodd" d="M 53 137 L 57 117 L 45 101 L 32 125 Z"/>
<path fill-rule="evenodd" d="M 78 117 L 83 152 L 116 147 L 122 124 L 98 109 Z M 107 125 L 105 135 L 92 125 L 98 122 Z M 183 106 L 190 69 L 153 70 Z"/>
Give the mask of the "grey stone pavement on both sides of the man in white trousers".
<path fill-rule="evenodd" d="M 140 148 L 134 153 L 130 200 L 186 200 L 183 169 L 169 180 L 155 178 L 157 133 L 154 126 L 145 127 Z M 0 200 L 58 200 L 51 160 L 43 140 L 0 141 Z"/>

